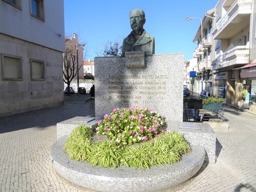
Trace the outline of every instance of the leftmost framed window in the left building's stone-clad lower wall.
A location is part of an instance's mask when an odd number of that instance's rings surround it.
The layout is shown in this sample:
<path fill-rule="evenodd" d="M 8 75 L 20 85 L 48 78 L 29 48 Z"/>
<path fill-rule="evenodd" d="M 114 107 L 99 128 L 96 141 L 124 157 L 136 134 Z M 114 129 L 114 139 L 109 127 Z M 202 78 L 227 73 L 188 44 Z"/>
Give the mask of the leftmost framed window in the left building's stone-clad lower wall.
<path fill-rule="evenodd" d="M 3 80 L 22 80 L 22 58 L 2 56 Z"/>

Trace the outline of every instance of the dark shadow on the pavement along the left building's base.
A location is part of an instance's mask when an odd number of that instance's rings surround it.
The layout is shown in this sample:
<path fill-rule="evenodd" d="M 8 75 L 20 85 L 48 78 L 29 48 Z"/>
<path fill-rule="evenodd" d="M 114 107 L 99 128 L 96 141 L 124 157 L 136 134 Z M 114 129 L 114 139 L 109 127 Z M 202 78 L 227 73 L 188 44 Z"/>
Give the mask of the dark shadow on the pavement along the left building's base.
<path fill-rule="evenodd" d="M 0 134 L 32 127 L 44 129 L 76 116 L 88 116 L 90 104 L 85 101 L 89 97 L 90 94 L 64 96 L 64 104 L 61 106 L 2 117 Z"/>

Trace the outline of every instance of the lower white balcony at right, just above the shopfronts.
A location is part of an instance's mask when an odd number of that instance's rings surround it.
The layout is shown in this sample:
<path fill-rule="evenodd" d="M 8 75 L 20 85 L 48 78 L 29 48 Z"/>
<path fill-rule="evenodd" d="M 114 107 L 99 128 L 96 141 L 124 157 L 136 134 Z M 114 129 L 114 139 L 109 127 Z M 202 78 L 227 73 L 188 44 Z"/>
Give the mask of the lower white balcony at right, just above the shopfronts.
<path fill-rule="evenodd" d="M 234 47 L 211 62 L 212 70 L 241 67 L 249 63 L 249 57 L 248 46 Z"/>

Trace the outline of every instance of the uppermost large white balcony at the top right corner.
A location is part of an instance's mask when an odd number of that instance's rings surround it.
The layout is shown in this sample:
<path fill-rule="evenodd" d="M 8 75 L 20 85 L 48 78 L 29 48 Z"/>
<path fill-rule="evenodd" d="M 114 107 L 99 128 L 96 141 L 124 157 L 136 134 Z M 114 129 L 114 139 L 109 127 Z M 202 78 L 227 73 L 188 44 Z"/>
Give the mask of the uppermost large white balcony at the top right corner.
<path fill-rule="evenodd" d="M 229 39 L 250 25 L 251 4 L 252 0 L 234 1 L 226 14 L 217 21 L 217 25 L 212 33 L 214 39 Z M 226 7 L 228 6 L 224 4 L 223 9 Z"/>

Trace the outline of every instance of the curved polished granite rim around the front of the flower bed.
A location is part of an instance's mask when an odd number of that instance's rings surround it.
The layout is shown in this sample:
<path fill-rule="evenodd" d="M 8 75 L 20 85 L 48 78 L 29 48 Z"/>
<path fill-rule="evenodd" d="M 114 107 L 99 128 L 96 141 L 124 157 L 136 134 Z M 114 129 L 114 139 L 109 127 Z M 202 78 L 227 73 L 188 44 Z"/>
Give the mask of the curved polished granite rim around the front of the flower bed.
<path fill-rule="evenodd" d="M 80 188 L 104 192 L 142 192 L 171 190 L 193 177 L 203 164 L 205 150 L 191 146 L 192 152 L 172 165 L 135 169 L 120 166 L 104 168 L 87 162 L 71 160 L 63 150 L 68 136 L 63 136 L 51 147 L 51 160 L 56 173 Z"/>

